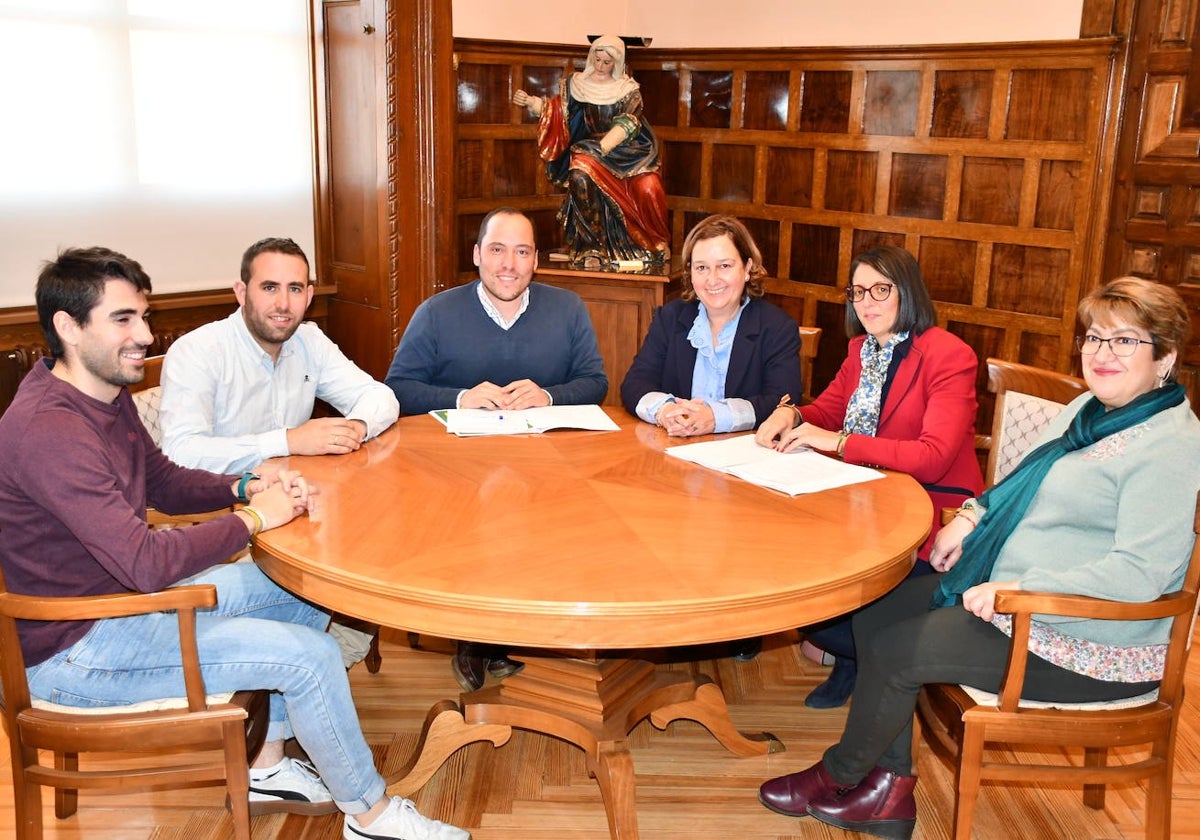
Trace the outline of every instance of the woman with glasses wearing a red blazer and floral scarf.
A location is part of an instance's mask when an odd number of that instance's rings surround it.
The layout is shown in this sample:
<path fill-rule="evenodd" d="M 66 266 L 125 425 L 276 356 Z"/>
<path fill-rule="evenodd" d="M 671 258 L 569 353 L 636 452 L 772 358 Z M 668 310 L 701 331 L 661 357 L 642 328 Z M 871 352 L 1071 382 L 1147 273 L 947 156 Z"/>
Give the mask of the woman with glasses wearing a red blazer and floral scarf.
<path fill-rule="evenodd" d="M 908 473 L 934 502 L 929 539 L 911 575 L 930 571 L 929 550 L 940 511 L 983 490 L 974 451 L 978 359 L 960 338 L 936 326 L 937 316 L 917 260 L 904 248 L 858 254 L 846 287 L 846 360 L 811 404 L 781 404 L 756 439 L 780 451 L 810 446 L 850 463 Z M 841 706 L 857 672 L 850 617 L 806 631 L 834 654 L 829 679 L 805 704 Z"/>

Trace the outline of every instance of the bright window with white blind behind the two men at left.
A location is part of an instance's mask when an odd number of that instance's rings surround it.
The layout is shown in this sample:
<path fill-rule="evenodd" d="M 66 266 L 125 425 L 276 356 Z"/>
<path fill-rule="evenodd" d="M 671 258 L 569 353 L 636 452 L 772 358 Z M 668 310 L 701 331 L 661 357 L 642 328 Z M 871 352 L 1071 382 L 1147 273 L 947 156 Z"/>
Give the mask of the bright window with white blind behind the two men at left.
<path fill-rule="evenodd" d="M 222 288 L 241 251 L 312 254 L 305 0 L 0 0 L 0 306 L 71 245 L 156 292 Z"/>

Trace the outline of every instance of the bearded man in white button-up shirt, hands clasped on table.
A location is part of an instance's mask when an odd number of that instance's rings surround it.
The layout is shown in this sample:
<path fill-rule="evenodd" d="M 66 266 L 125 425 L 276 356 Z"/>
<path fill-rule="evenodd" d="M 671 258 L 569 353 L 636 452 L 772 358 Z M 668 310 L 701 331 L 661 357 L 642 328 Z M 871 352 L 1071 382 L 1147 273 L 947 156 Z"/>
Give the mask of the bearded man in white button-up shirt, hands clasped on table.
<path fill-rule="evenodd" d="M 396 422 L 400 403 L 304 323 L 308 258 L 290 239 L 246 250 L 238 311 L 178 338 L 162 364 L 162 450 L 184 467 L 241 473 L 282 455 L 344 455 Z M 342 413 L 313 418 L 317 398 Z M 330 632 L 349 667 L 373 632 L 338 622 Z"/>

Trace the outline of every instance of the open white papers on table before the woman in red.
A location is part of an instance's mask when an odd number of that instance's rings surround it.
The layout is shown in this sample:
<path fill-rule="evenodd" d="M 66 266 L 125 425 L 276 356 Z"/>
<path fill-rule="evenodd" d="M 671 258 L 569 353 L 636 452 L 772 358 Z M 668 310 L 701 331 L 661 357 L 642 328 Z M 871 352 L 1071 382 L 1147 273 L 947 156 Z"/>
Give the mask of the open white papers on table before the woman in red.
<path fill-rule="evenodd" d="M 883 478 L 877 469 L 845 463 L 811 449 L 776 452 L 756 444 L 754 434 L 671 446 L 666 452 L 788 496 Z"/>

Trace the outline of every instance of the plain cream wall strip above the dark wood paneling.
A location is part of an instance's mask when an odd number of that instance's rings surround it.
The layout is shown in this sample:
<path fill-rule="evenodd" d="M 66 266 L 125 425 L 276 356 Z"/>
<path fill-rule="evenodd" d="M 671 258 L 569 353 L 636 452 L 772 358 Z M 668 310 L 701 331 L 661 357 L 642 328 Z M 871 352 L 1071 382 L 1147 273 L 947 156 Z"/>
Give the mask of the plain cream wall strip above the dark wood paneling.
<path fill-rule="evenodd" d="M 642 35 L 653 47 L 824 47 L 1079 37 L 1082 0 L 454 0 L 464 38 L 587 43 Z"/>

